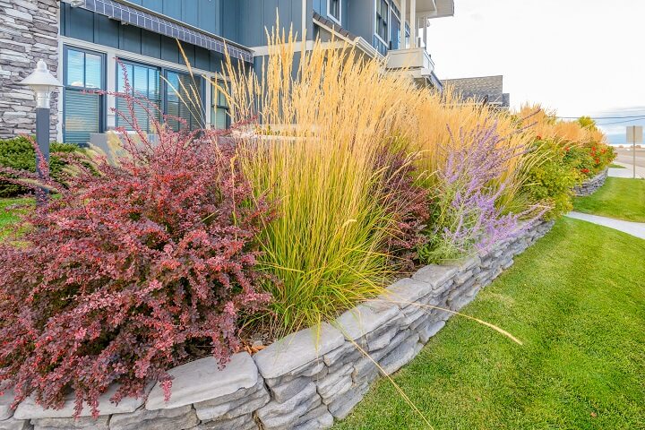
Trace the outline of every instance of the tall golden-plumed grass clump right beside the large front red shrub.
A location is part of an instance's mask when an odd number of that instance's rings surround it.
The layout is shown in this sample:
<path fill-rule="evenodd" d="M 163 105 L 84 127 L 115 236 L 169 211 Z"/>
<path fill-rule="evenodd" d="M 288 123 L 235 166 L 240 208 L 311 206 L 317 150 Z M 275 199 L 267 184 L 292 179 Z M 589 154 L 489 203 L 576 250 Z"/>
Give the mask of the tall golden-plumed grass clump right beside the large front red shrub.
<path fill-rule="evenodd" d="M 297 46 L 273 34 L 261 71 L 228 64 L 233 120 L 258 118 L 237 139 L 240 162 L 254 193 L 276 202 L 260 236 L 260 267 L 280 280 L 265 286 L 276 335 L 381 294 L 400 267 L 393 251 L 417 245 L 409 211 L 426 199 L 396 150 L 406 100 L 421 91 L 349 47 L 318 42 L 297 61 Z"/>

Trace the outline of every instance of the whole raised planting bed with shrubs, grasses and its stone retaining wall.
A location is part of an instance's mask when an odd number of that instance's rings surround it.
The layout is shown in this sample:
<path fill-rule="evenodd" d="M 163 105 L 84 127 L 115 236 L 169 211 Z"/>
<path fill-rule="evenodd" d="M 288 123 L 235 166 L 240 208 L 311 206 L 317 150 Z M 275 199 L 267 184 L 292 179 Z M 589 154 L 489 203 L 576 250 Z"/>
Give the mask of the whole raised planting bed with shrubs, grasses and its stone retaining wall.
<path fill-rule="evenodd" d="M 331 426 L 614 159 L 588 121 L 270 43 L 226 64 L 232 131 L 150 139 L 125 77 L 122 148 L 0 168 L 43 202 L 0 241 L 0 429 Z"/>

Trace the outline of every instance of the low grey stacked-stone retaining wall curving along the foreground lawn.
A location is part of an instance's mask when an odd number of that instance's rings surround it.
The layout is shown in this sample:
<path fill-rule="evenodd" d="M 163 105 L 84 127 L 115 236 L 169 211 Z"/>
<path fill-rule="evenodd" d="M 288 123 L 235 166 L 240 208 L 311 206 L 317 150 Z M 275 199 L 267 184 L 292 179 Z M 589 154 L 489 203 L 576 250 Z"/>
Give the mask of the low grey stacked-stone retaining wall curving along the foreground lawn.
<path fill-rule="evenodd" d="M 26 400 L 13 412 L 7 393 L 0 398 L 0 430 L 329 428 L 348 416 L 379 377 L 373 359 L 392 374 L 443 328 L 452 314 L 428 305 L 453 311 L 468 305 L 553 224 L 538 223 L 485 255 L 426 266 L 392 284 L 386 297 L 324 323 L 319 336 L 313 329 L 298 331 L 254 357 L 236 354 L 222 370 L 212 357 L 178 366 L 170 371 L 175 379 L 168 402 L 157 384 L 145 403 L 125 399 L 116 406 L 109 402 L 112 389 L 99 403 L 104 415 L 95 420 L 84 409 L 74 420 L 72 397 L 64 409 L 45 410 Z"/>

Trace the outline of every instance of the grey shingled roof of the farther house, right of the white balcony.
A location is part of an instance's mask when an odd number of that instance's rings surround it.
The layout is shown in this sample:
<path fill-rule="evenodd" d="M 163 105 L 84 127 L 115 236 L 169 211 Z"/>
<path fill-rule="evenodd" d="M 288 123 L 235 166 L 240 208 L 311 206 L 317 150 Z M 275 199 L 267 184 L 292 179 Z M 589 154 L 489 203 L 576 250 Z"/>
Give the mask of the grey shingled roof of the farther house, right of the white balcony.
<path fill-rule="evenodd" d="M 502 75 L 446 79 L 443 85 L 452 87 L 464 102 L 486 104 L 502 110 L 511 108 L 511 95 L 503 92 Z"/>

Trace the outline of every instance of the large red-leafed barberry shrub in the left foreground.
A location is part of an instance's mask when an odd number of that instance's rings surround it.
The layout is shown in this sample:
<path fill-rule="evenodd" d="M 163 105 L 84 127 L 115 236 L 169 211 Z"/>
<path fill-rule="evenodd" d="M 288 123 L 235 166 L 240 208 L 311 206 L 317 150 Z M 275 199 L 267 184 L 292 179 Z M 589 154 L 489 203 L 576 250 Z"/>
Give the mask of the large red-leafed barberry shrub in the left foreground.
<path fill-rule="evenodd" d="M 156 380 L 168 395 L 169 367 L 200 348 L 226 363 L 238 316 L 268 301 L 254 271 L 268 208 L 234 151 L 209 133 L 158 134 L 125 138 L 117 166 L 77 162 L 0 245 L 0 391 L 16 401 L 56 408 L 73 390 L 77 413 L 85 402 L 96 416 L 114 383 L 116 402 Z"/>

